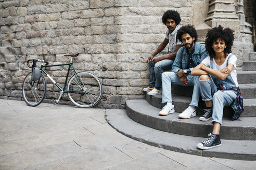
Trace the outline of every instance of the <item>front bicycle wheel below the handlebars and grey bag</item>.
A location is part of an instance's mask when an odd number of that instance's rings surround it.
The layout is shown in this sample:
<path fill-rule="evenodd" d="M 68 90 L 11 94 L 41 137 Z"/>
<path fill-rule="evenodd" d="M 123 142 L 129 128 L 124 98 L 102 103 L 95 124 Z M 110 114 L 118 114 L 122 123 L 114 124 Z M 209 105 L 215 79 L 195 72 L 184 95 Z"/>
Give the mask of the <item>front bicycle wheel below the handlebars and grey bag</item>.
<path fill-rule="evenodd" d="M 22 84 L 22 96 L 25 103 L 29 106 L 37 106 L 43 102 L 46 94 L 46 81 L 41 74 L 38 80 L 31 80 L 32 72 L 24 79 Z"/>

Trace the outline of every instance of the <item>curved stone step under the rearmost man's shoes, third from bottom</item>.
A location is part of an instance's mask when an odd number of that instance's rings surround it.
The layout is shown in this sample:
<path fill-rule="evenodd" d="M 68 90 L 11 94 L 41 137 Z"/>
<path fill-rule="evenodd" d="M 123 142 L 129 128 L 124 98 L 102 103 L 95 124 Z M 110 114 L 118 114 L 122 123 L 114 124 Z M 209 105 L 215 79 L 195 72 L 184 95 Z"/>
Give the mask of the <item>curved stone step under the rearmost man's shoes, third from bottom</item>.
<path fill-rule="evenodd" d="M 177 94 L 172 94 L 173 104 L 175 106 L 176 112 L 183 112 L 190 104 L 191 97 L 181 96 Z M 146 93 L 146 101 L 157 108 L 163 108 L 165 103 L 162 104 L 162 94 L 159 95 L 148 95 Z M 241 117 L 256 117 L 256 98 L 244 98 L 245 110 L 242 112 Z M 202 115 L 202 111 L 197 109 L 197 114 Z M 224 106 L 224 117 L 231 117 L 232 108 L 229 106 Z"/>

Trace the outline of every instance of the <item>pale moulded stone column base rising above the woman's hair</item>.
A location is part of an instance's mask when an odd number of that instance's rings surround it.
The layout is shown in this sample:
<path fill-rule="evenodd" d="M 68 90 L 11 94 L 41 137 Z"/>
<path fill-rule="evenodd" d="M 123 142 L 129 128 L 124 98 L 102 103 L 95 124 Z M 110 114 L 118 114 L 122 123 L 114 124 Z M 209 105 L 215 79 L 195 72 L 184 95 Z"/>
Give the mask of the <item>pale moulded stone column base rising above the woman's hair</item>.
<path fill-rule="evenodd" d="M 204 23 L 210 27 L 222 25 L 240 32 L 240 21 L 234 7 L 234 0 L 209 0 L 209 10 Z"/>

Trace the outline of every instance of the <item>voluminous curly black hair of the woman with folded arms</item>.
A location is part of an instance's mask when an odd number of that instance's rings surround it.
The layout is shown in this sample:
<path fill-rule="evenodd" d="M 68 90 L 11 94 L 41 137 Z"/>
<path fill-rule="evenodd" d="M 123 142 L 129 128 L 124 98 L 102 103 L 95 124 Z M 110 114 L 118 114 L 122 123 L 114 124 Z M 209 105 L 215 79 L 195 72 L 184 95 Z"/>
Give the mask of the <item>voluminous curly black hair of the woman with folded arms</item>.
<path fill-rule="evenodd" d="M 213 43 L 220 38 L 225 41 L 226 48 L 224 49 L 224 53 L 231 53 L 231 48 L 233 46 L 234 41 L 234 31 L 229 29 L 228 27 L 223 29 L 221 25 L 218 27 L 214 27 L 213 29 L 208 30 L 206 34 L 206 51 L 208 52 L 211 58 L 214 58 L 215 52 L 212 48 Z"/>

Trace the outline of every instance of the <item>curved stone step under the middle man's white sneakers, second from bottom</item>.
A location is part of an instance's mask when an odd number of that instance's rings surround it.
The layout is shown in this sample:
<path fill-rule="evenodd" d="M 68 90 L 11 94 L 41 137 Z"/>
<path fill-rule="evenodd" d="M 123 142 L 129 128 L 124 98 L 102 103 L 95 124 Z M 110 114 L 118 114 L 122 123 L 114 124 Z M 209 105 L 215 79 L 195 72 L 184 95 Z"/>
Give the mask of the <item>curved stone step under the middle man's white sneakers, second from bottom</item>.
<path fill-rule="evenodd" d="M 206 137 L 213 129 L 211 121 L 199 121 L 199 116 L 180 119 L 177 112 L 168 116 L 160 116 L 158 114 L 160 110 L 150 105 L 146 100 L 126 101 L 127 115 L 135 122 L 153 129 L 194 137 Z M 238 121 L 232 121 L 230 117 L 224 117 L 221 126 L 221 138 L 256 140 L 256 118 L 243 117 L 239 118 Z"/>

